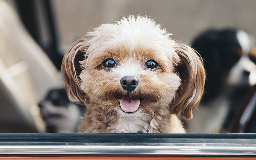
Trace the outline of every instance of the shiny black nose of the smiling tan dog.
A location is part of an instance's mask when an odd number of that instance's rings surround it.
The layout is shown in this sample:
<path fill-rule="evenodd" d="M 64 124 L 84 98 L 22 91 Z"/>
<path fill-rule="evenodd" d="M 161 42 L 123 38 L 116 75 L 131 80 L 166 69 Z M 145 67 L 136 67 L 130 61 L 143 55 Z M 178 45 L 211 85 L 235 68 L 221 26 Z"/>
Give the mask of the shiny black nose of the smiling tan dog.
<path fill-rule="evenodd" d="M 123 89 L 133 91 L 137 87 L 139 80 L 137 77 L 125 76 L 121 78 L 120 83 Z"/>

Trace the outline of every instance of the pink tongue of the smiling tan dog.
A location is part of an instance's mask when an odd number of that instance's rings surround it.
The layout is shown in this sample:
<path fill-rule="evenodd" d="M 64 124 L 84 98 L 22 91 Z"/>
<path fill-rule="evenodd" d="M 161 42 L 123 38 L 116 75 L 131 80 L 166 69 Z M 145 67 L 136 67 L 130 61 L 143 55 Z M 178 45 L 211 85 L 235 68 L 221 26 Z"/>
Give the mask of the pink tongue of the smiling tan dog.
<path fill-rule="evenodd" d="M 125 112 L 135 112 L 140 106 L 140 100 L 122 97 L 120 106 Z"/>

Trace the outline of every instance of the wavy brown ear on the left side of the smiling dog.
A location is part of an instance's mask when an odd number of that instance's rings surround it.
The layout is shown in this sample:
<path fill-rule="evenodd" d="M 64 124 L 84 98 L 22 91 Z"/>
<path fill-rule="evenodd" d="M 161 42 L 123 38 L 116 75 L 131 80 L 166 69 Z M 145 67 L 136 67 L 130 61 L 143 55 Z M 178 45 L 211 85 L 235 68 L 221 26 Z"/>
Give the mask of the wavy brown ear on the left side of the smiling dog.
<path fill-rule="evenodd" d="M 75 41 L 65 53 L 61 74 L 63 76 L 65 88 L 71 102 L 87 105 L 89 97 L 80 89 L 81 80 L 79 75 L 82 72 L 80 62 L 86 59 L 87 40 L 79 39 Z"/>

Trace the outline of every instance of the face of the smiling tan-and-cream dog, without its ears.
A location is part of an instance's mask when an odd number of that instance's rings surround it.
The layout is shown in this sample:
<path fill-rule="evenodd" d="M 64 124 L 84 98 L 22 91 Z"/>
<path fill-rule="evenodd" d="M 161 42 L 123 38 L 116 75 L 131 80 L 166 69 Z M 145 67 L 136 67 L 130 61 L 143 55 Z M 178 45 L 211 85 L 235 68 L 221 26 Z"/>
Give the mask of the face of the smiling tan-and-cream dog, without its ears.
<path fill-rule="evenodd" d="M 141 30 L 132 34 L 134 29 L 128 28 L 130 33 L 126 35 L 121 27 L 117 29 L 120 35 L 106 36 L 113 34 L 112 28 L 100 33 L 101 42 L 97 42 L 103 46 L 98 50 L 88 48 L 87 66 L 80 74 L 81 90 L 91 100 L 104 103 L 109 113 L 154 114 L 159 103 L 172 101 L 180 86 L 181 80 L 173 67 L 178 55 L 171 48 L 171 41 L 158 32 L 150 39 L 155 41 L 154 46 L 148 45 L 147 35 L 152 36 L 151 30 L 141 35 Z M 136 113 L 137 110 L 140 112 Z"/>

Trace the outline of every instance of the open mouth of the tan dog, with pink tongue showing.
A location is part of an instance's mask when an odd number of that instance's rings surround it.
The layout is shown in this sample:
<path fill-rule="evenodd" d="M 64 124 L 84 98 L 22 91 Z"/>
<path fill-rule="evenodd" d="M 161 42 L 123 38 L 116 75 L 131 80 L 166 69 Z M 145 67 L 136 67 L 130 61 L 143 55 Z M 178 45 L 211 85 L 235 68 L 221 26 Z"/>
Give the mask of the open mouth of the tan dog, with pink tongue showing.
<path fill-rule="evenodd" d="M 139 97 L 127 97 L 122 96 L 121 99 L 117 99 L 119 102 L 119 108 L 124 113 L 135 113 L 139 107 L 140 103 L 143 101 L 143 98 Z"/>

